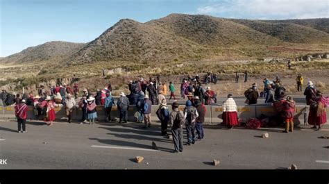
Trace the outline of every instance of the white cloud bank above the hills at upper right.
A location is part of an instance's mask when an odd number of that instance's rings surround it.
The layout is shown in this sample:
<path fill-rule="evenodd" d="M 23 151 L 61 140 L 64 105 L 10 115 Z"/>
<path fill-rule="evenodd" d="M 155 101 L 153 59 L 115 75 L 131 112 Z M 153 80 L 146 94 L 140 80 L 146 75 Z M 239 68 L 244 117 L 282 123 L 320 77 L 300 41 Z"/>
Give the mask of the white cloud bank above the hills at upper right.
<path fill-rule="evenodd" d="M 328 0 L 210 0 L 199 14 L 240 18 L 294 19 L 329 17 Z"/>

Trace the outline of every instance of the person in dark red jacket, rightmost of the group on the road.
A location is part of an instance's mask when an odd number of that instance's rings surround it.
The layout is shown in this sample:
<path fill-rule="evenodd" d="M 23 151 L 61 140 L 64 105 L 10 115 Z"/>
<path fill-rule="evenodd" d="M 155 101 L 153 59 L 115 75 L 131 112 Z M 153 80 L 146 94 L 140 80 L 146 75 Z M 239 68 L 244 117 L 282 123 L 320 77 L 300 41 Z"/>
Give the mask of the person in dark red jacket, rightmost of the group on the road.
<path fill-rule="evenodd" d="M 196 117 L 196 133 L 198 134 L 198 140 L 202 140 L 204 137 L 203 133 L 203 123 L 205 122 L 205 112 L 207 112 L 205 106 L 201 103 L 199 100 L 199 97 L 195 97 L 195 105 L 196 105 L 196 111 L 198 112 L 199 116 Z"/>

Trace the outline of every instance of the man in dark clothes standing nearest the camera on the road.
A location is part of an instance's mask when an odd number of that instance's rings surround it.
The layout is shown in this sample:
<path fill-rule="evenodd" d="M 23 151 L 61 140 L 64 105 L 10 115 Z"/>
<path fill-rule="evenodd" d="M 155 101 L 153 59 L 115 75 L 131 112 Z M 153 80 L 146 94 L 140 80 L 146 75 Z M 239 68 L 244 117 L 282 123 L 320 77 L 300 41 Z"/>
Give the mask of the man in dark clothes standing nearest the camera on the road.
<path fill-rule="evenodd" d="M 170 113 L 171 133 L 174 140 L 174 153 L 178 151 L 183 152 L 183 124 L 185 124 L 185 118 L 183 112 L 178 109 L 178 103 L 175 101 L 172 105 L 172 111 Z"/>

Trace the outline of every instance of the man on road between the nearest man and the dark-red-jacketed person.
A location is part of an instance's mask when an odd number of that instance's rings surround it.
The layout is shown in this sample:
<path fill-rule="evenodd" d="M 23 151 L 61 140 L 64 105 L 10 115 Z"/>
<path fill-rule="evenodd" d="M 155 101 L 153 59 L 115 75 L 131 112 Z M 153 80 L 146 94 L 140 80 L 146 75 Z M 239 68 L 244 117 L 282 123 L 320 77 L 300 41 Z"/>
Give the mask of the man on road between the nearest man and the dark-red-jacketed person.
<path fill-rule="evenodd" d="M 185 117 L 185 128 L 187 132 L 187 144 L 188 146 L 194 144 L 195 142 L 195 123 L 196 117 L 199 117 L 198 111 L 194 106 L 192 106 L 192 101 L 186 101 L 184 109 L 184 117 Z"/>

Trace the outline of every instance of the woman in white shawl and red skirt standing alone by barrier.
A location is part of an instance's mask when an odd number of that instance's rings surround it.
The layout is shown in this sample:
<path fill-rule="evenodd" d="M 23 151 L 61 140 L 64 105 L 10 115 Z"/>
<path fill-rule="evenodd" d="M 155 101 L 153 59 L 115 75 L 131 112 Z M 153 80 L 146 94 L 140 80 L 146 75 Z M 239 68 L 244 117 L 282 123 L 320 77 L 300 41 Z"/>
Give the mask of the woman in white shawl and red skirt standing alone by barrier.
<path fill-rule="evenodd" d="M 228 94 L 228 99 L 223 101 L 223 123 L 231 129 L 239 124 L 237 118 L 237 104 L 233 99 L 233 94 Z"/>

